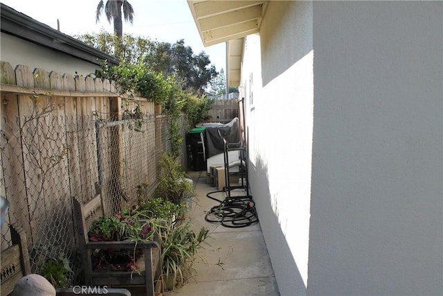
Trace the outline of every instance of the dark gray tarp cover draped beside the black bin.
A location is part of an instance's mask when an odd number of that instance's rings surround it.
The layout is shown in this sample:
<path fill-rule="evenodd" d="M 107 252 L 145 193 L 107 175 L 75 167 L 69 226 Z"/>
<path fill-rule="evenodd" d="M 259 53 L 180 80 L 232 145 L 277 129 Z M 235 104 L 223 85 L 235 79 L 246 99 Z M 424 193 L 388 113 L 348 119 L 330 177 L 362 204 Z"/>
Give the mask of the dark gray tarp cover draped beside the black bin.
<path fill-rule="evenodd" d="M 223 139 L 228 143 L 238 143 L 238 118 L 235 117 L 224 125 L 208 127 L 205 129 L 205 154 L 206 159 L 224 153 Z"/>

